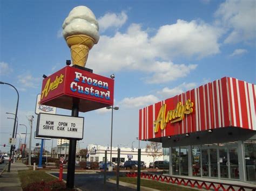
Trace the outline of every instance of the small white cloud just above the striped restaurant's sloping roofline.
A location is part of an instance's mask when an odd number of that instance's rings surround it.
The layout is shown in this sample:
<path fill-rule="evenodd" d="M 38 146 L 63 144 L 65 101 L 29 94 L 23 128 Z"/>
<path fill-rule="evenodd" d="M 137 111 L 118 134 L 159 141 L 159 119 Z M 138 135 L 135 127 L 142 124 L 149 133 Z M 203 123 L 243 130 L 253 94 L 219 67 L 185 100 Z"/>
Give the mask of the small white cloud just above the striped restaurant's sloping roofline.
<path fill-rule="evenodd" d="M 165 87 L 160 91 L 157 91 L 157 94 L 159 94 L 161 97 L 173 97 L 176 95 L 179 95 L 181 93 L 184 93 L 188 90 L 193 89 L 194 87 L 196 87 L 197 84 L 196 83 L 182 83 L 177 87 L 174 87 L 172 89 Z"/>

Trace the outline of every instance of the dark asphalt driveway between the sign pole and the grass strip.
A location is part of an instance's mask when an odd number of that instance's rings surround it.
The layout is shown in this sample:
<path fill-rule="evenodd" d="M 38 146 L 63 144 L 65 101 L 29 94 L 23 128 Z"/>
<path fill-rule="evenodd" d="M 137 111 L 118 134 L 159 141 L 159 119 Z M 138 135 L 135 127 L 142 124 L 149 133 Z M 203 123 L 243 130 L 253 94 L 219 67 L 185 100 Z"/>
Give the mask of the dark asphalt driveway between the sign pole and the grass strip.
<path fill-rule="evenodd" d="M 58 173 L 52 173 L 55 176 L 59 176 Z M 120 174 L 122 175 L 122 174 Z M 116 176 L 116 172 L 107 172 L 106 178 Z M 66 174 L 63 174 L 63 179 L 66 180 Z M 82 190 L 104 190 L 104 172 L 96 172 L 94 174 L 75 174 L 75 187 Z M 116 190 L 115 183 L 106 182 L 106 190 Z M 119 190 L 136 190 L 119 185 Z"/>

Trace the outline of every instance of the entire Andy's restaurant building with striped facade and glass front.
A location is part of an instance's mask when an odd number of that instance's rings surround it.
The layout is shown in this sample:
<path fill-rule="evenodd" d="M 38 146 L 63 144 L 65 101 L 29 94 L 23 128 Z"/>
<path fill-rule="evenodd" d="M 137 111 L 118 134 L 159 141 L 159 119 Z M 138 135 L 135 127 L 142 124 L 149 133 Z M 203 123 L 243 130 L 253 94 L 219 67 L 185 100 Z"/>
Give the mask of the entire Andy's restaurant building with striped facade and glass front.
<path fill-rule="evenodd" d="M 169 150 L 169 174 L 256 183 L 256 86 L 223 77 L 139 110 L 139 139 Z"/>

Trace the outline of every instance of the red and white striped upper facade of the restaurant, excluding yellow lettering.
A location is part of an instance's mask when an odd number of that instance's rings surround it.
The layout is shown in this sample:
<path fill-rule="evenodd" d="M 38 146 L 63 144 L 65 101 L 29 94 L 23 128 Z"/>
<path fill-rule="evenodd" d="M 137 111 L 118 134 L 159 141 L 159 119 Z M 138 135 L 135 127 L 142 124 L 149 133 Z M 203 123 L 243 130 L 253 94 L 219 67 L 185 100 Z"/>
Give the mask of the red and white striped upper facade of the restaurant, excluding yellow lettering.
<path fill-rule="evenodd" d="M 232 77 L 223 77 L 186 93 L 168 98 L 139 110 L 139 139 L 181 135 L 218 129 L 238 127 L 256 130 L 255 98 L 256 86 Z M 177 103 L 193 102 L 191 114 L 184 115 L 183 120 L 166 123 L 165 129 L 154 132 L 154 122 L 163 104 L 167 111 L 175 110 Z M 159 125 L 160 126 L 160 125 Z"/>

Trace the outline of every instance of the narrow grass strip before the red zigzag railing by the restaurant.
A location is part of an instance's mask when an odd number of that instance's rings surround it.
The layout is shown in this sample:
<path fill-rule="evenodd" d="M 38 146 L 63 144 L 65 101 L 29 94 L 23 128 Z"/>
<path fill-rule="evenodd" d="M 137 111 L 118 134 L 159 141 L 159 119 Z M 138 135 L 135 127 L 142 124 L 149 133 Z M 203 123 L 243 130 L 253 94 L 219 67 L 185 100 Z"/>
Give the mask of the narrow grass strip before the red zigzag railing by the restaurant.
<path fill-rule="evenodd" d="M 116 178 L 111 178 L 112 180 L 116 180 Z M 119 177 L 119 181 L 132 183 L 133 185 L 137 185 L 137 177 Z M 154 188 L 158 190 L 174 190 L 174 191 L 188 191 L 188 190 L 197 190 L 192 188 L 185 188 L 182 186 L 172 185 L 171 183 L 163 183 L 155 180 L 146 180 L 140 179 L 140 186 L 145 186 L 149 188 Z"/>

